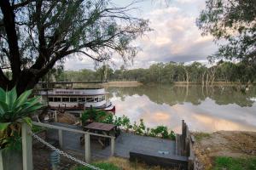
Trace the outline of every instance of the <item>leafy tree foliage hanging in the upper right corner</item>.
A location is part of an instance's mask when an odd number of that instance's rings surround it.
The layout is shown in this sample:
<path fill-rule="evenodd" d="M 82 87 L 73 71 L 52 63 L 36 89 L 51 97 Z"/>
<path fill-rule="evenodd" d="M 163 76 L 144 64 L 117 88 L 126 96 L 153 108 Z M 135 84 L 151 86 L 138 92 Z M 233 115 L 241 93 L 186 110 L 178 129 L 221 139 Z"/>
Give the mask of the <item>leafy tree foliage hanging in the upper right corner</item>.
<path fill-rule="evenodd" d="M 210 59 L 238 59 L 256 65 L 255 0 L 207 0 L 197 26 L 218 42 L 218 53 Z"/>

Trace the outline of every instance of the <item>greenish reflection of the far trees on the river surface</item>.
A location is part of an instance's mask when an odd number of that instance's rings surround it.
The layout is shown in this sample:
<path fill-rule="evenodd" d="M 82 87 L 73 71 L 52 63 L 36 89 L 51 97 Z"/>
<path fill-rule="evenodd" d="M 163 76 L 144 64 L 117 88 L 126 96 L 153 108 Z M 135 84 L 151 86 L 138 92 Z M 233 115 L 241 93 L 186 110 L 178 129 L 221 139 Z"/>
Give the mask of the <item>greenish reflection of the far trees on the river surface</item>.
<path fill-rule="evenodd" d="M 202 101 L 210 98 L 217 105 L 236 104 L 241 107 L 253 106 L 253 98 L 256 97 L 256 87 L 251 87 L 246 93 L 232 86 L 202 87 L 192 86 L 138 86 L 138 87 L 112 87 L 108 88 L 110 94 L 115 94 L 122 101 L 125 96 L 139 95 L 148 96 L 152 102 L 157 104 L 176 105 L 189 102 L 193 105 L 200 105 Z M 110 96 L 111 98 L 111 96 Z"/>

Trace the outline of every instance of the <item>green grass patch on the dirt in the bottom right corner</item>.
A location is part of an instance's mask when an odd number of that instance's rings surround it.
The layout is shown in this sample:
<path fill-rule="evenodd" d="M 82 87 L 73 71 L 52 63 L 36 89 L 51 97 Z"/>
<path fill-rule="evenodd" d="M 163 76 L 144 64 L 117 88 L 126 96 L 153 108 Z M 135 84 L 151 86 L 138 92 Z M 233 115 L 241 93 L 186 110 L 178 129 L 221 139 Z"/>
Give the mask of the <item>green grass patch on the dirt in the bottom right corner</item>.
<path fill-rule="evenodd" d="M 218 156 L 215 158 L 214 170 L 252 170 L 256 169 L 256 157 L 253 158 L 232 158 Z"/>

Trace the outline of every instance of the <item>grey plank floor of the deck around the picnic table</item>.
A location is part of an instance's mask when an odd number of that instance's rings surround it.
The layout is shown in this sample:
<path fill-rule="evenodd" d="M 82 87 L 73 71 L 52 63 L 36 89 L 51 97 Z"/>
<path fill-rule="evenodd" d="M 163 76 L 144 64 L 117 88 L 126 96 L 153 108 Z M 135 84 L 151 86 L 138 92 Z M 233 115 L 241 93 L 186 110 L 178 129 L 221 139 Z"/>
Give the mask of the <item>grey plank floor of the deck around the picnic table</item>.
<path fill-rule="evenodd" d="M 73 129 L 80 129 L 77 126 L 67 125 L 63 123 L 54 123 L 61 127 L 69 127 Z M 79 133 L 63 132 L 63 149 L 72 150 L 80 154 L 84 154 L 84 144 L 80 144 Z M 54 129 L 49 129 L 47 133 L 49 140 L 58 140 L 58 132 Z M 91 156 L 93 159 L 108 158 L 110 156 L 110 146 L 102 149 L 102 146 L 97 142 L 91 142 Z M 119 137 L 115 140 L 115 156 L 121 156 L 125 158 L 130 157 L 130 151 L 141 150 L 152 155 L 159 155 L 165 157 L 172 157 L 175 155 L 175 141 L 168 139 L 158 139 L 152 137 L 139 136 L 132 133 L 122 132 Z"/>

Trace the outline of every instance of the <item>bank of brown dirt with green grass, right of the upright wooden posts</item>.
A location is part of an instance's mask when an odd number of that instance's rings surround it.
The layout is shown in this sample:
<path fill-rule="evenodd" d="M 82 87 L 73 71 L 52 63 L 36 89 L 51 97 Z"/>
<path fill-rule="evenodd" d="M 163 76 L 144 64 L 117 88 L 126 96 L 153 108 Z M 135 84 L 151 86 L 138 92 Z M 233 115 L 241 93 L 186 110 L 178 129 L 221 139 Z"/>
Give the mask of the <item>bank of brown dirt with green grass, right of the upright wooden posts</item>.
<path fill-rule="evenodd" d="M 193 135 L 199 169 L 256 169 L 256 132 L 218 131 Z"/>

